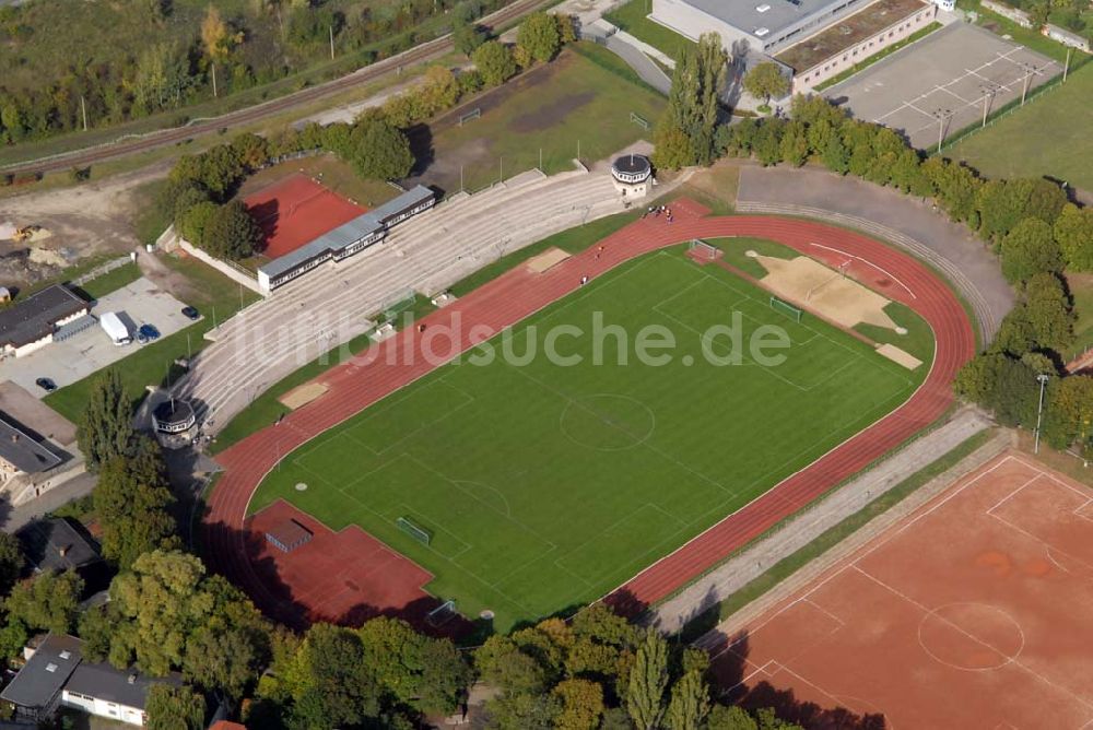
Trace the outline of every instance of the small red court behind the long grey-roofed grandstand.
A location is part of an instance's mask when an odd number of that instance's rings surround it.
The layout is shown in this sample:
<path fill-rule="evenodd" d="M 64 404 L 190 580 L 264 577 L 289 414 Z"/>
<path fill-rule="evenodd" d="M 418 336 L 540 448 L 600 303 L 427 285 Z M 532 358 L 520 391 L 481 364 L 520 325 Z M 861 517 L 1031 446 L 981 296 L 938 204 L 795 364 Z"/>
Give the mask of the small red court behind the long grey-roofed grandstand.
<path fill-rule="evenodd" d="M 247 196 L 243 202 L 266 239 L 261 254 L 270 259 L 367 212 L 299 173 Z"/>

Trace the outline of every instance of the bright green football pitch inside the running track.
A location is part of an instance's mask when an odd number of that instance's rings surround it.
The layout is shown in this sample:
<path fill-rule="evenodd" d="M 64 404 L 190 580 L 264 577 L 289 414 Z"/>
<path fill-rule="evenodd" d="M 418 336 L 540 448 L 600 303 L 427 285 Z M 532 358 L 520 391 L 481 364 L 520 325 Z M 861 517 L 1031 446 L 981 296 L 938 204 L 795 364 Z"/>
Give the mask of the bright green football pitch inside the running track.
<path fill-rule="evenodd" d="M 602 338 L 596 313 L 628 332 Z M 743 340 L 780 327 L 785 362 L 715 365 L 709 337 L 740 313 Z M 552 327 L 576 365 L 542 356 Z M 675 340 L 661 366 L 635 337 Z M 705 339 L 704 339 L 705 338 Z M 529 349 L 536 343 L 533 357 Z M 747 348 L 745 348 L 747 349 Z M 427 589 L 495 627 L 595 600 L 903 402 L 928 366 L 904 369 L 761 289 L 680 249 L 632 261 L 515 328 L 514 354 L 445 365 L 291 454 L 262 482 L 334 530 L 359 525 L 432 572 Z M 690 365 L 687 363 L 691 363 Z M 306 491 L 294 485 L 303 482 Z M 398 526 L 408 518 L 427 544 Z"/>

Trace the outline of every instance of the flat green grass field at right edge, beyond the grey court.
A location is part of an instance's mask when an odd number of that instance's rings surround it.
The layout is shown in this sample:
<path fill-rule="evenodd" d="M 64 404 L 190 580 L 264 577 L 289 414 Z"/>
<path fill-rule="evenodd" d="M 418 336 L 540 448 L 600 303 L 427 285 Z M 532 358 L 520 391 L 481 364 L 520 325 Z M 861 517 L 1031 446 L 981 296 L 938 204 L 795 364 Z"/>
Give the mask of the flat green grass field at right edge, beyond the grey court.
<path fill-rule="evenodd" d="M 1093 63 L 945 151 L 987 177 L 1050 175 L 1093 190 Z"/>

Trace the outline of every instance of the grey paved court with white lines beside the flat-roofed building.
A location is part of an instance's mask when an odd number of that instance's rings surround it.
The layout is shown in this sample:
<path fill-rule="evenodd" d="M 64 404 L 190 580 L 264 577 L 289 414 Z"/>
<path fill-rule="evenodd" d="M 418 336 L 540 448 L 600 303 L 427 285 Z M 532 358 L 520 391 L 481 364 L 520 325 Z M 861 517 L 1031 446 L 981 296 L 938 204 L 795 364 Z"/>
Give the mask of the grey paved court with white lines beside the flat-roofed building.
<path fill-rule="evenodd" d="M 938 144 L 1062 72 L 1024 46 L 968 23 L 953 23 L 836 84 L 824 96 L 858 119 L 904 133 L 919 149 Z"/>

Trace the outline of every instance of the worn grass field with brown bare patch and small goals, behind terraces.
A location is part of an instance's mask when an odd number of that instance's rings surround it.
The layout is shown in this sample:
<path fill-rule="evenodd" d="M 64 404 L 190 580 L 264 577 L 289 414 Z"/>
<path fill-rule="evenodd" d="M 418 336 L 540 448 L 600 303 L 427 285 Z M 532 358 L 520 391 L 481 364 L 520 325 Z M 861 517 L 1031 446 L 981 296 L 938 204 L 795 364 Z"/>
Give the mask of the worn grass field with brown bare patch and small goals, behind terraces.
<path fill-rule="evenodd" d="M 454 192 L 479 190 L 540 166 L 548 174 L 573 169 L 573 160 L 598 161 L 651 132 L 630 120 L 636 113 L 656 121 L 666 101 L 635 81 L 604 48 L 581 43 L 545 68 L 533 69 L 480 96 L 415 136 L 419 155 L 431 160 L 421 173 L 428 185 Z M 472 108 L 482 116 L 459 126 Z M 460 175 L 460 173 L 462 175 Z"/>

